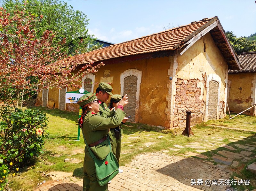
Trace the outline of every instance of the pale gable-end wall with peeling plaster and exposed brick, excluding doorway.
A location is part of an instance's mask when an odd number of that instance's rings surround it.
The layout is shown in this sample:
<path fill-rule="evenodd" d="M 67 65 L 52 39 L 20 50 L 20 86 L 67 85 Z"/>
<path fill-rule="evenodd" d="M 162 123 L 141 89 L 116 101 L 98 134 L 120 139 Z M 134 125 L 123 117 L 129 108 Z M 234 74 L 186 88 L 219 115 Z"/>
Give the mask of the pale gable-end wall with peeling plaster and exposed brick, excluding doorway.
<path fill-rule="evenodd" d="M 186 96 L 176 92 L 174 115 L 175 120 L 180 120 L 176 123 L 176 126 L 184 126 L 185 111 L 191 110 L 191 121 L 200 122 L 200 120 L 207 120 L 208 113 L 205 113 L 206 106 L 208 107 L 209 100 L 206 100 L 206 80 L 209 75 L 216 75 L 220 77 L 220 95 L 219 95 L 219 111 L 218 117 L 224 117 L 225 103 L 225 89 L 226 89 L 226 73 L 227 64 L 220 50 L 215 46 L 210 33 L 204 35 L 200 40 L 195 42 L 184 54 L 177 57 L 178 68 L 176 71 L 176 78 L 183 80 L 179 88 L 194 89 L 196 94 L 193 99 L 188 99 L 190 90 L 186 92 Z M 214 78 L 213 78 L 214 79 Z M 193 83 L 194 82 L 194 83 Z M 208 87 L 209 88 L 209 87 Z M 184 100 L 184 103 L 176 102 L 176 100 Z M 209 97 L 211 99 L 211 97 Z M 196 101 L 196 103 L 195 103 Z M 211 100 L 210 100 L 211 101 Z M 191 105 L 197 105 L 198 107 L 190 107 Z M 220 107 L 220 105 L 222 105 Z M 199 108 L 200 106 L 200 108 Z M 178 111 L 179 108 L 179 111 Z M 181 112 L 183 111 L 183 112 Z M 200 111 L 200 114 L 199 114 Z M 180 112 L 180 113 L 179 113 Z M 222 113 L 220 115 L 220 113 Z M 206 116 L 205 116 L 206 115 Z"/>

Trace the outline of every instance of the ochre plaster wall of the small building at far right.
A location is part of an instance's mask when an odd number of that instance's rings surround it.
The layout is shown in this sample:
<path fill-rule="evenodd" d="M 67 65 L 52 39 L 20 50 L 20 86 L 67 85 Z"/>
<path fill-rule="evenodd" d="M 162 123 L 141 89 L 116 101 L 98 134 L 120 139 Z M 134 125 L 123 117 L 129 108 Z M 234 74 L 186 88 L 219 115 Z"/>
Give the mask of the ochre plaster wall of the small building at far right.
<path fill-rule="evenodd" d="M 230 80 L 228 107 L 230 111 L 241 112 L 251 107 L 253 76 L 253 73 L 228 74 L 228 80 Z M 253 113 L 253 110 L 245 111 L 245 113 Z"/>

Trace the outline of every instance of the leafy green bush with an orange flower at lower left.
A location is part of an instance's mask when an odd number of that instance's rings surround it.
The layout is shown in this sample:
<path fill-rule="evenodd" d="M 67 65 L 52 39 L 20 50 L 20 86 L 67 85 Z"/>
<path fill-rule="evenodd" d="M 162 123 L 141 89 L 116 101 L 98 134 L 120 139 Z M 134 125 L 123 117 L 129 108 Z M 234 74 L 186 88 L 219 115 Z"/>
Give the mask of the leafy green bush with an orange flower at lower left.
<path fill-rule="evenodd" d="M 43 153 L 44 139 L 49 135 L 45 113 L 36 109 L 5 110 L 1 118 L 0 164 L 12 170 Z"/>

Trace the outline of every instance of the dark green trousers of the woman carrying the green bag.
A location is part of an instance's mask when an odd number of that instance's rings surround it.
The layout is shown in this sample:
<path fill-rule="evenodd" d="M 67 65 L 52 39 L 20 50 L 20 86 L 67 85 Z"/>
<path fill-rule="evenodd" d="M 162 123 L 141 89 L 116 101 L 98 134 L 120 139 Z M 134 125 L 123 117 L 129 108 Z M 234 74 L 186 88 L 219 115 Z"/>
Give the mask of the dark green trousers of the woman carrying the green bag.
<path fill-rule="evenodd" d="M 108 191 L 108 184 L 100 186 L 97 181 L 95 164 L 93 160 L 84 160 L 83 191 Z"/>

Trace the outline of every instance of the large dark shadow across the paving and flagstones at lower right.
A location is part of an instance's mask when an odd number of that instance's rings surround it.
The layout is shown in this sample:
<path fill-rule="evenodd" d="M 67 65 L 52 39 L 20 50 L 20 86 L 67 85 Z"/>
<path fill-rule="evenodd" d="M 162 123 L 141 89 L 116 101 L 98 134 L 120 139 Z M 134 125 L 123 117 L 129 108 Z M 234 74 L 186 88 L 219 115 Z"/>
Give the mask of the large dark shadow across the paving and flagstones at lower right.
<path fill-rule="evenodd" d="M 187 186 L 191 186 L 191 180 L 195 179 L 197 182 L 198 179 L 202 179 L 203 184 L 201 186 L 193 187 L 204 190 L 220 190 L 221 187 L 224 189 L 224 186 L 231 186 L 227 184 L 227 181 L 234 179 L 233 176 L 237 176 L 242 180 L 239 186 L 238 182 L 234 182 L 232 187 L 238 188 L 238 190 L 254 189 L 256 187 L 256 176 L 246 170 L 246 167 L 256 161 L 256 135 L 253 132 L 248 132 L 252 135 L 241 140 L 235 140 L 235 138 L 230 138 L 232 134 L 229 134 L 228 131 L 227 129 L 228 140 L 232 142 L 228 144 L 223 142 L 221 144 L 213 140 L 213 144 L 221 146 L 201 154 L 190 153 L 191 155 L 195 154 L 195 156 L 172 162 L 156 171 L 172 177 Z M 206 144 L 209 143 L 206 142 Z M 207 186 L 205 180 L 210 180 L 211 185 Z M 245 185 L 248 183 L 245 183 L 244 180 L 249 180 L 250 184 Z"/>

